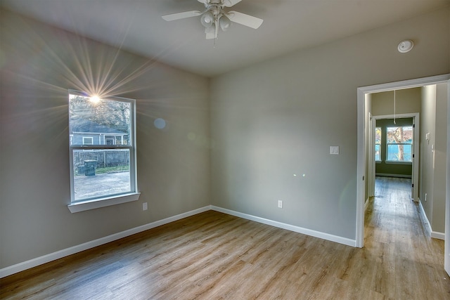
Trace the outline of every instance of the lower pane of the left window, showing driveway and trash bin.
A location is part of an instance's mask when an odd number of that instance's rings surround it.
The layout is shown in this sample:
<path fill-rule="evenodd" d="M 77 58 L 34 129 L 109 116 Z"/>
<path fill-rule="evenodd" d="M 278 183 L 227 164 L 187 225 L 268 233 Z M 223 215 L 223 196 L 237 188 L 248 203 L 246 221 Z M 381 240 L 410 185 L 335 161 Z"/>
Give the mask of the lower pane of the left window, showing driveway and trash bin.
<path fill-rule="evenodd" d="M 75 201 L 131 192 L 129 150 L 73 150 Z"/>

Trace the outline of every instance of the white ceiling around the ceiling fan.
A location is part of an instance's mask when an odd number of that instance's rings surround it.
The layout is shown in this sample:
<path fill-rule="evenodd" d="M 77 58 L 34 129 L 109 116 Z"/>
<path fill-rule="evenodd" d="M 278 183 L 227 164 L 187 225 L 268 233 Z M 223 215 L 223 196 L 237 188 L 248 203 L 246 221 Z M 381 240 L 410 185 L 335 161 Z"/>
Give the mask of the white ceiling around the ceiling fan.
<path fill-rule="evenodd" d="M 214 45 L 205 39 L 199 17 L 172 22 L 161 18 L 201 11 L 204 6 L 197 0 L 1 0 L 11 11 L 207 77 L 449 4 L 450 0 L 243 0 L 233 11 L 264 19 L 262 26 L 253 30 L 233 23 L 229 31 L 219 32 Z"/>

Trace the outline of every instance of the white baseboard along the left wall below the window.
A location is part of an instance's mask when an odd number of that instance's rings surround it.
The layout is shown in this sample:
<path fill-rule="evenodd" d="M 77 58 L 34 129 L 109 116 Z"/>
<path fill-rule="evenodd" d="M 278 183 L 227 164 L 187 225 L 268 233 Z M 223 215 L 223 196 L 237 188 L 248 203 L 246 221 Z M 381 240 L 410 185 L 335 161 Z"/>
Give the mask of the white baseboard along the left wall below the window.
<path fill-rule="evenodd" d="M 53 252 L 53 253 L 50 253 L 50 254 L 46 254 L 44 256 L 40 256 L 40 257 L 37 257 L 35 259 L 30 259 L 29 261 L 23 261 L 22 263 L 17 263 L 17 264 L 15 264 L 13 266 L 8 266 L 6 268 L 0 269 L 0 278 L 4 278 L 6 276 L 18 273 L 20 271 L 27 270 L 29 268 L 33 268 L 35 266 L 39 266 L 41 264 L 48 263 L 50 261 L 54 261 L 56 259 L 61 259 L 61 258 L 65 257 L 65 256 L 69 256 L 69 255 L 75 254 L 77 252 L 82 252 L 84 250 L 100 246 L 101 244 L 106 244 L 108 242 L 113 242 L 115 240 L 119 240 L 119 239 L 121 239 L 123 237 L 127 237 L 129 235 L 134 235 L 136 233 L 141 233 L 142 231 L 149 230 L 151 228 L 155 228 L 155 227 L 167 224 L 167 223 L 171 223 L 173 221 L 181 220 L 181 219 L 184 219 L 184 218 L 186 218 L 188 216 L 193 216 L 195 214 L 200 214 L 200 213 L 202 213 L 204 211 L 209 211 L 210 209 L 211 209 L 210 206 L 202 207 L 200 209 L 194 209 L 193 211 L 188 211 L 188 212 L 185 212 L 184 214 L 178 214 L 176 216 L 171 216 L 169 218 L 162 219 L 160 221 L 155 221 L 155 222 L 152 222 L 152 223 L 148 223 L 146 225 L 139 226 L 139 227 L 136 227 L 136 228 L 131 228 L 129 230 L 124 230 L 124 231 L 122 231 L 120 233 L 115 233 L 113 235 L 108 235 L 106 237 L 101 237 L 101 238 L 99 238 L 97 240 L 92 240 L 90 242 L 85 242 L 83 244 L 78 244 L 77 246 L 70 247 L 70 248 L 67 248 L 67 249 L 63 249 L 63 250 L 60 250 L 60 251 L 57 251 L 57 252 Z"/>

